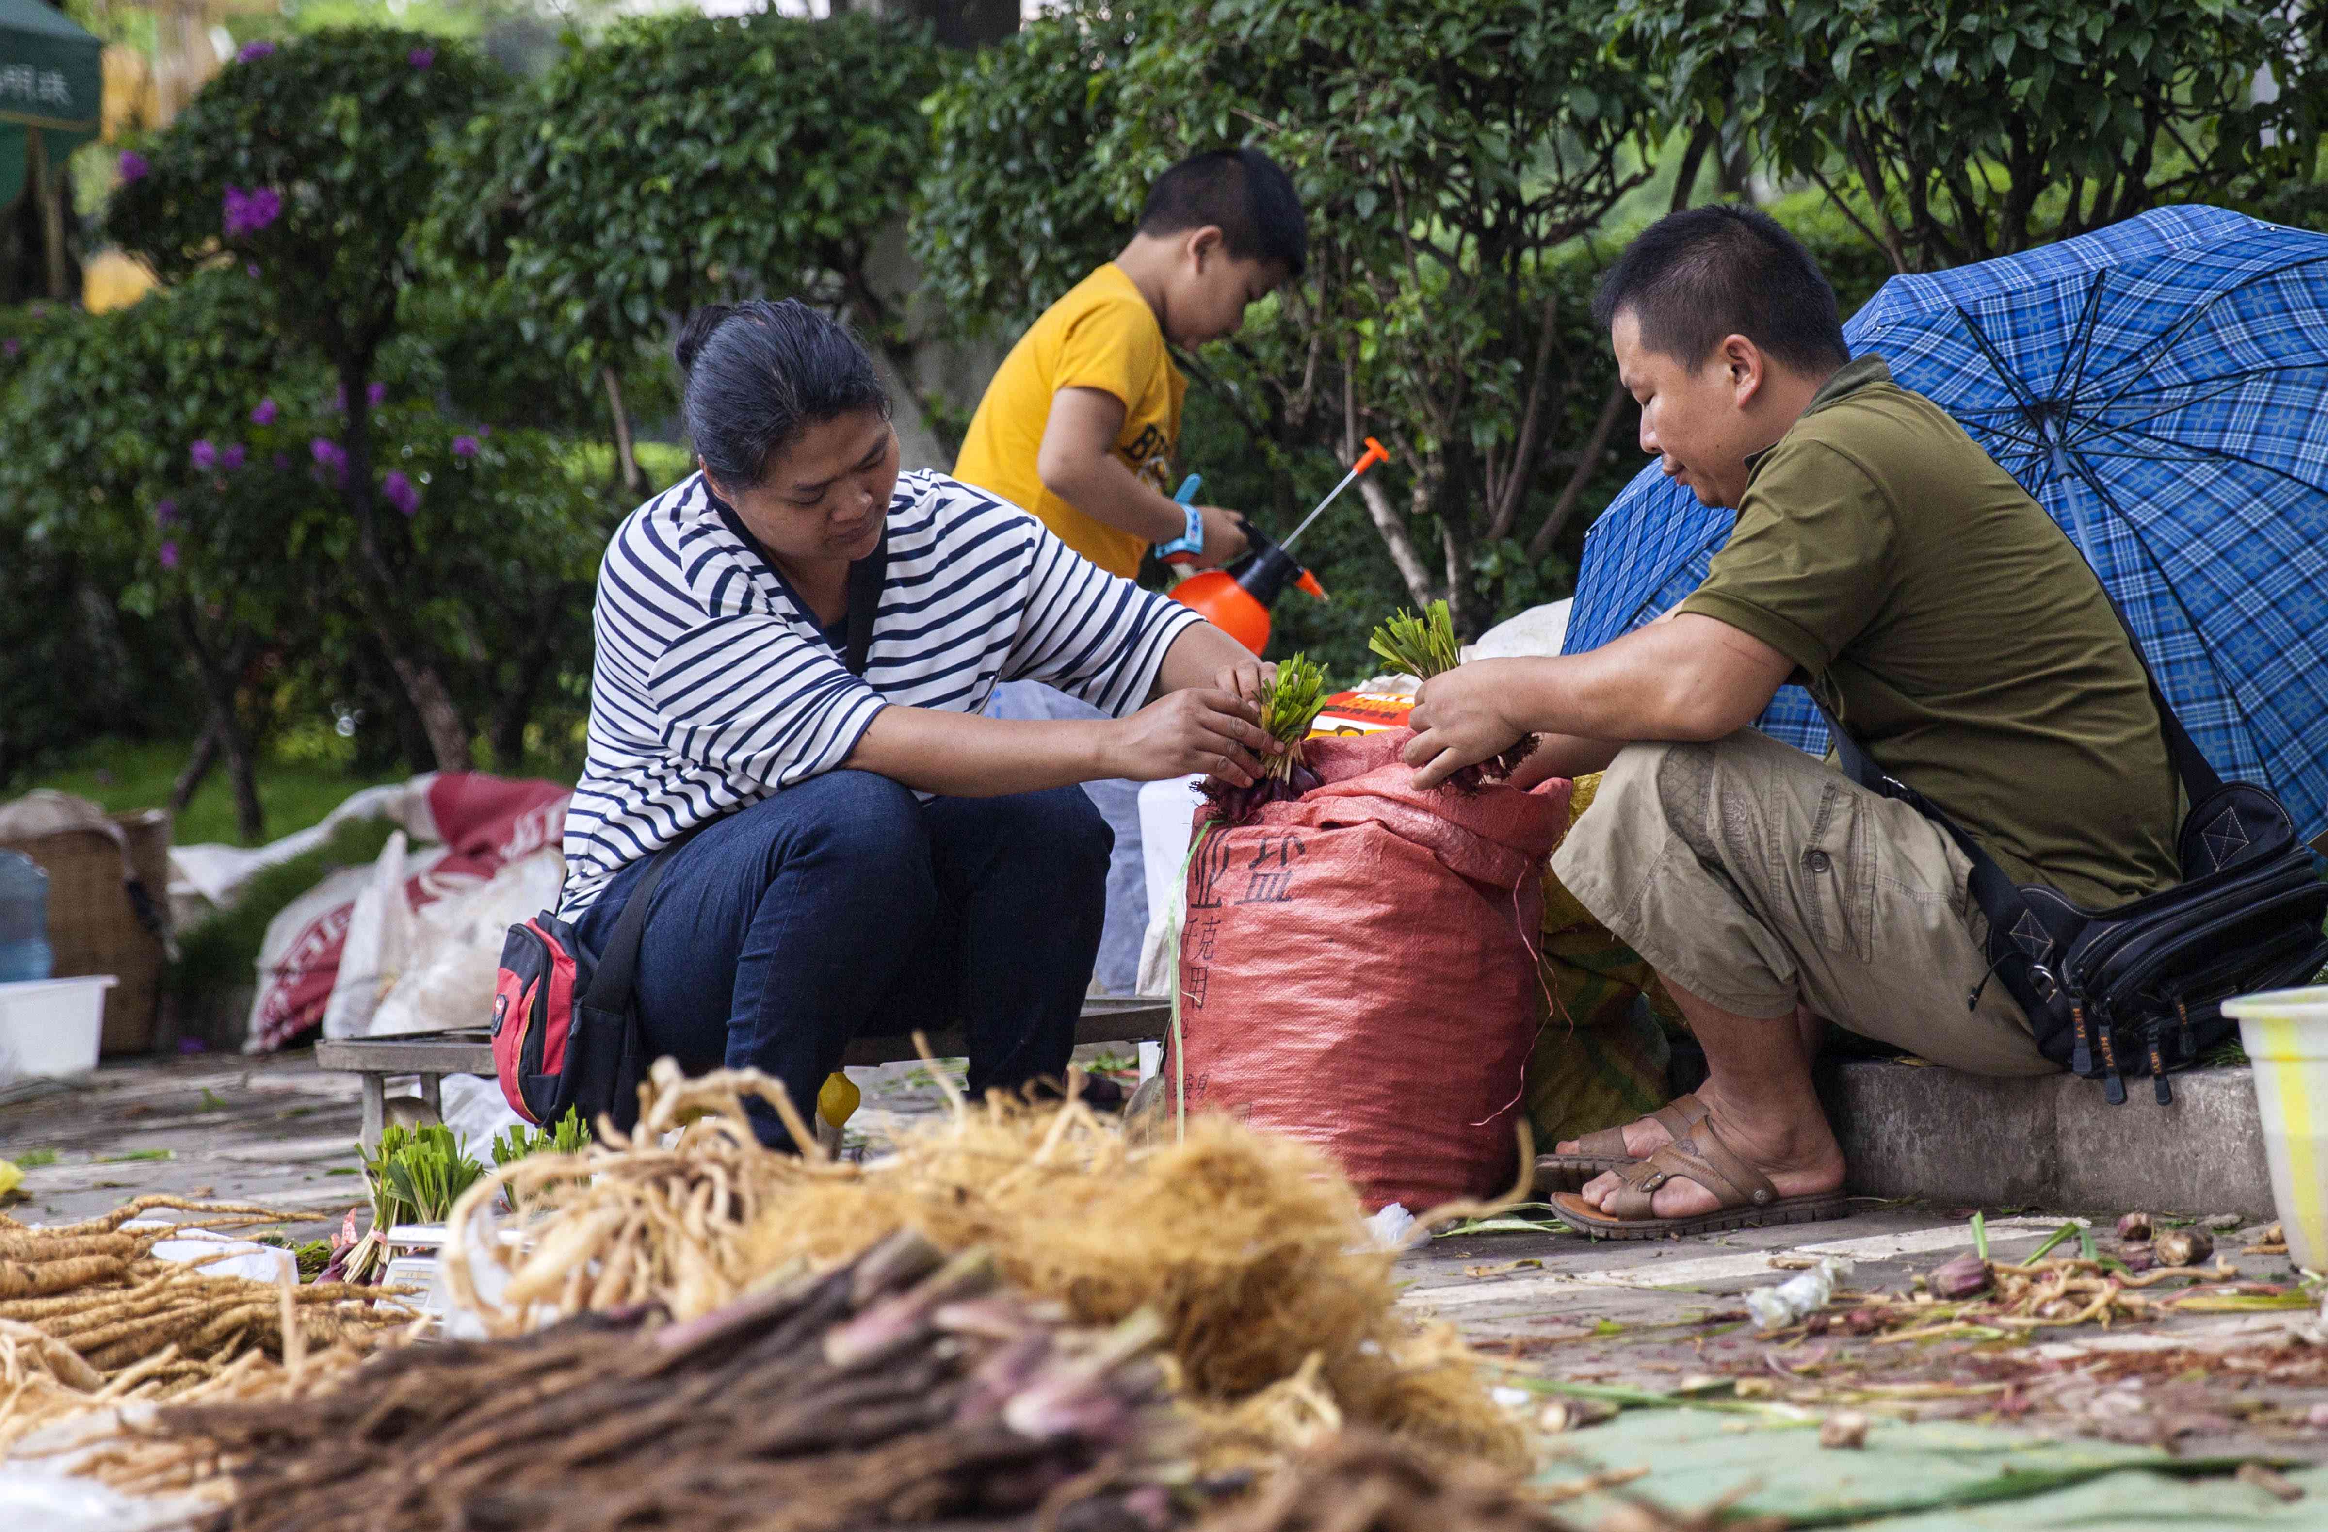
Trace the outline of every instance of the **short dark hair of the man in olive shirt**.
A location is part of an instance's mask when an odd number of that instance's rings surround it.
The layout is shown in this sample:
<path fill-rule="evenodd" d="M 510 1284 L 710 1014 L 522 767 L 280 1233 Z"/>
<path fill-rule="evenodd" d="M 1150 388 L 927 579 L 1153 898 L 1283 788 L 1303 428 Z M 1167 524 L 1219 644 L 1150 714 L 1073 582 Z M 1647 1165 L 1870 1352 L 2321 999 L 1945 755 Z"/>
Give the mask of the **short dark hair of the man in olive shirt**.
<path fill-rule="evenodd" d="M 1723 335 L 1744 335 L 1809 377 L 1851 361 L 1818 261 L 1753 207 L 1688 207 L 1644 228 L 1592 296 L 1599 328 L 1620 312 L 1632 312 L 1644 347 L 1690 368 Z"/>

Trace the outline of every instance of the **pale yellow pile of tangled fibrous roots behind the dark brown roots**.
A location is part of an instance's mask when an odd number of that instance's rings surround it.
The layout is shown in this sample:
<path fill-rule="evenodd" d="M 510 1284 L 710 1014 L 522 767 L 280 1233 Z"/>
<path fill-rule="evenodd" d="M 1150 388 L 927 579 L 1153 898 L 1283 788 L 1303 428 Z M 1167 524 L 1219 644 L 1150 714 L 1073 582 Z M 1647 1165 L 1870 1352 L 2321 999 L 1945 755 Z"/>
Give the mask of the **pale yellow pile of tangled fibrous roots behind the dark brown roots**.
<path fill-rule="evenodd" d="M 1206 1467 L 1343 1423 L 1525 1462 L 1455 1332 L 1397 1313 L 1390 1253 L 1308 1146 L 1225 1118 L 1192 1120 L 1185 1141 L 1134 1143 L 1076 1101 L 994 1099 L 957 1101 L 887 1159 L 833 1164 L 759 1148 L 738 1092 L 792 1113 L 752 1071 L 684 1080 L 659 1064 L 629 1139 L 489 1173 L 452 1220 L 456 1302 L 505 1334 L 647 1302 L 689 1320 L 917 1229 L 945 1253 L 989 1250 L 1013 1288 L 1078 1325 L 1152 1311 L 1183 1406 L 1208 1427 Z M 815 1134 L 794 1125 L 794 1141 Z M 491 1218 L 503 1185 L 519 1208 L 501 1225 L 519 1232 L 514 1246 Z"/>

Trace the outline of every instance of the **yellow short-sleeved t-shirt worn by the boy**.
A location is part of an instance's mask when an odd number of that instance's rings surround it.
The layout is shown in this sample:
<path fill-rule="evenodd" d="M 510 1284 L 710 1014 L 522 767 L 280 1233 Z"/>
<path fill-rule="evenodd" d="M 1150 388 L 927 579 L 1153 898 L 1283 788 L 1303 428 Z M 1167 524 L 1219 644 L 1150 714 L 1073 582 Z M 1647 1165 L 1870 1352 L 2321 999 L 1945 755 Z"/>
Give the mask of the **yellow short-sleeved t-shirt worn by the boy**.
<path fill-rule="evenodd" d="M 1078 554 L 1131 580 L 1148 540 L 1083 515 L 1036 473 L 1050 398 L 1059 389 L 1101 389 L 1124 400 L 1115 456 L 1157 491 L 1173 491 L 1166 459 L 1180 440 L 1187 380 L 1171 366 L 1155 310 L 1113 261 L 1052 303 L 1003 356 L 961 438 L 954 477 L 1031 510 Z"/>

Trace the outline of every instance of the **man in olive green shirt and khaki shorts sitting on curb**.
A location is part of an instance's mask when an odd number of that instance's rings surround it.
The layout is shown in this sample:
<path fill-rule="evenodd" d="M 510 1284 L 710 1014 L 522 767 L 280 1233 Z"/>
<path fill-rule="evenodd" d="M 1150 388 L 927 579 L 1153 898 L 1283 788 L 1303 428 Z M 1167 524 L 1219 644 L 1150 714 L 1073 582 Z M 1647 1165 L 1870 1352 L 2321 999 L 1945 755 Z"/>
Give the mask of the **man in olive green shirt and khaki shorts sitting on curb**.
<path fill-rule="evenodd" d="M 1944 410 L 1851 359 L 1834 291 L 1769 217 L 1655 224 L 1595 312 L 1641 447 L 1737 526 L 1665 619 L 1429 680 L 1406 759 L 1427 787 L 1539 733 L 1529 775 L 1606 768 L 1553 873 L 1706 1050 L 1695 1097 L 1557 1146 L 1548 1169 L 1616 1166 L 1560 1215 L 1613 1236 L 1834 1215 L 1825 1022 L 1976 1073 L 2053 1064 L 2004 985 L 1979 987 L 1963 850 L 1748 724 L 1809 685 L 2009 875 L 2088 908 L 2177 880 L 2174 771 L 2093 570 Z"/>

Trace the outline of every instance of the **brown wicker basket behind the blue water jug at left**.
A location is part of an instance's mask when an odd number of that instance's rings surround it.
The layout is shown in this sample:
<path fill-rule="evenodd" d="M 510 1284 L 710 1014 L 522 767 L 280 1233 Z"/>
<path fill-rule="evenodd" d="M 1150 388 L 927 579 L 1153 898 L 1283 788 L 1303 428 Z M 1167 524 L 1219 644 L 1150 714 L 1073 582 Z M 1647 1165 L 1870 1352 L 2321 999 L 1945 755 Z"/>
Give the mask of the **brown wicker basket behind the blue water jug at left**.
<path fill-rule="evenodd" d="M 112 815 L 128 841 L 137 880 L 163 899 L 170 887 L 170 810 Z M 161 1008 L 163 943 L 137 922 L 121 885 L 121 845 L 93 829 L 61 829 L 30 841 L 0 841 L 49 873 L 49 950 L 56 978 L 112 973 L 105 994 L 102 1052 L 147 1052 Z"/>

